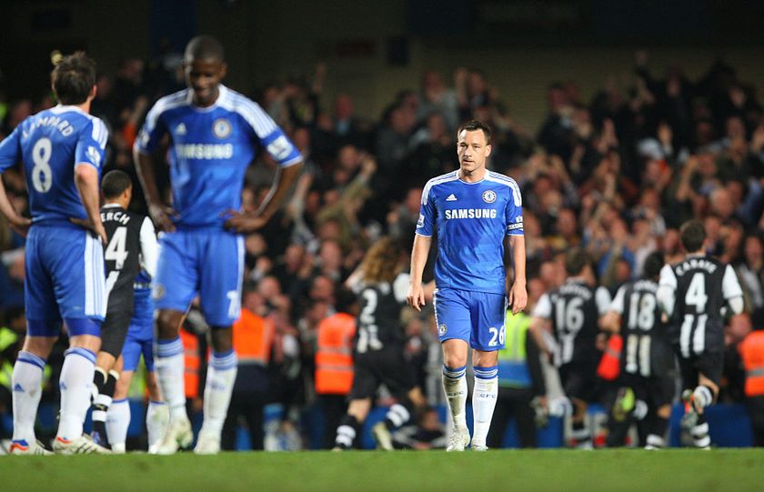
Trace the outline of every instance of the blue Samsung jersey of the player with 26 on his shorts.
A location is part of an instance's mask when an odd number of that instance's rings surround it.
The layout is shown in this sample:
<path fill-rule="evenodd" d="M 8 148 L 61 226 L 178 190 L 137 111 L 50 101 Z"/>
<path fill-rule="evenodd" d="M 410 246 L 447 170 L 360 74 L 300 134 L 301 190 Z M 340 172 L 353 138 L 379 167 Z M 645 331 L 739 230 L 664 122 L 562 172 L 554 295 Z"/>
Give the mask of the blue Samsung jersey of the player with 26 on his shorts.
<path fill-rule="evenodd" d="M 437 231 L 437 288 L 505 294 L 504 236 L 523 235 L 520 189 L 492 171 L 477 183 L 458 170 L 430 179 L 422 192 L 417 234 Z"/>

